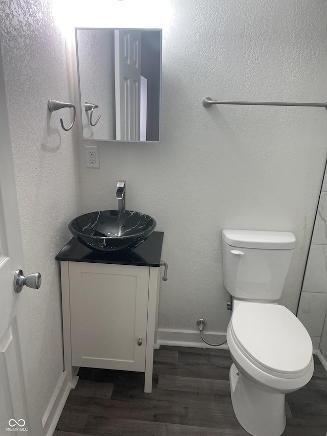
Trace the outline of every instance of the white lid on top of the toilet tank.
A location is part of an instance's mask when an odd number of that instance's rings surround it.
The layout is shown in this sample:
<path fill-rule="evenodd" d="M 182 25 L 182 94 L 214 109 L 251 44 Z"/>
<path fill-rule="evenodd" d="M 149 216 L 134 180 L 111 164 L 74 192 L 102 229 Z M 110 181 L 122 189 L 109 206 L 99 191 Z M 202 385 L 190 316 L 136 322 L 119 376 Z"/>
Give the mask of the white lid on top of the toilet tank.
<path fill-rule="evenodd" d="M 295 236 L 291 232 L 262 230 L 223 230 L 223 240 L 233 247 L 290 250 L 295 247 Z"/>

